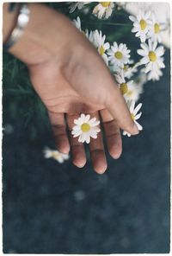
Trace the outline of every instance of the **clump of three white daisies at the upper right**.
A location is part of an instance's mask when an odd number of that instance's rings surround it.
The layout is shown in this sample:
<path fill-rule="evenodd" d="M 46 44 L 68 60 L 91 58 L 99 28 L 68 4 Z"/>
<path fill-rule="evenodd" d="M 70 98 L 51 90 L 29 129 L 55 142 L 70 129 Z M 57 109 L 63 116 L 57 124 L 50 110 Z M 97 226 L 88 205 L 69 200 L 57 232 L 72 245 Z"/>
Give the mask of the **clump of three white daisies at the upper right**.
<path fill-rule="evenodd" d="M 164 48 L 158 43 L 162 42 L 166 24 L 158 22 L 155 13 L 150 10 L 139 10 L 137 16 L 129 16 L 129 19 L 133 22 L 132 33 L 136 33 L 141 42 L 137 52 L 142 56 L 139 61 L 140 65 L 144 65 L 142 72 L 147 74 L 147 80 L 159 80 L 165 65 Z"/>

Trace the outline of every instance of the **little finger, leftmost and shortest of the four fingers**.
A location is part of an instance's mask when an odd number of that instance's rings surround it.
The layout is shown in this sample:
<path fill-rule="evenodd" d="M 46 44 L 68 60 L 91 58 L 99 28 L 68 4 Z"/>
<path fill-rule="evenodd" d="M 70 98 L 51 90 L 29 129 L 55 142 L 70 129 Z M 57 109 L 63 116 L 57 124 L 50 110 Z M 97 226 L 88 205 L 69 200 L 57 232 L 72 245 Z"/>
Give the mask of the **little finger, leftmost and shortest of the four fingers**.
<path fill-rule="evenodd" d="M 70 144 L 66 133 L 64 114 L 48 111 L 48 116 L 52 125 L 52 133 L 57 149 L 61 153 L 68 154 L 70 151 Z"/>

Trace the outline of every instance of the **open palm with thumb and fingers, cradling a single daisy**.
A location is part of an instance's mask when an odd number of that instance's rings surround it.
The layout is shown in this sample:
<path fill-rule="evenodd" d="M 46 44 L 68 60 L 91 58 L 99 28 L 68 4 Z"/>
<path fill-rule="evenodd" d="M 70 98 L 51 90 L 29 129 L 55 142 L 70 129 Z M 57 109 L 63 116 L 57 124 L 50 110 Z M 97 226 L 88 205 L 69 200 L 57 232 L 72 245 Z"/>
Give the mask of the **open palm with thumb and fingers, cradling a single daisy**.
<path fill-rule="evenodd" d="M 101 119 L 108 151 L 118 158 L 122 150 L 120 128 L 131 134 L 137 134 L 138 129 L 119 86 L 95 48 L 64 16 L 59 21 L 58 17 L 53 27 L 58 24 L 61 37 L 58 35 L 58 44 L 49 48 L 50 56 L 28 64 L 31 82 L 48 111 L 57 148 L 63 153 L 71 149 L 72 162 L 78 167 L 86 163 L 83 144 L 72 138 L 71 132 L 68 138 L 66 132 L 83 112 Z M 107 161 L 101 132 L 91 139 L 89 149 L 95 171 L 103 173 Z"/>

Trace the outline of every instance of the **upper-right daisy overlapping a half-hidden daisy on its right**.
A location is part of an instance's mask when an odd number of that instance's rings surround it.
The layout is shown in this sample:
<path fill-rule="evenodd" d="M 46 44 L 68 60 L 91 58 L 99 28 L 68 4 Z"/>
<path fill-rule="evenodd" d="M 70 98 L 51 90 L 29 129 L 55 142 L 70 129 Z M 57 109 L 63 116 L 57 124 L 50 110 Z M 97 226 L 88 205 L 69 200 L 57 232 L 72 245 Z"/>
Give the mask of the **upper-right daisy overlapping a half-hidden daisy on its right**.
<path fill-rule="evenodd" d="M 141 42 L 146 40 L 150 16 L 151 11 L 145 12 L 144 10 L 138 10 L 137 16 L 129 16 L 129 19 L 133 22 L 132 33 L 136 33 L 136 37 L 139 37 Z"/>

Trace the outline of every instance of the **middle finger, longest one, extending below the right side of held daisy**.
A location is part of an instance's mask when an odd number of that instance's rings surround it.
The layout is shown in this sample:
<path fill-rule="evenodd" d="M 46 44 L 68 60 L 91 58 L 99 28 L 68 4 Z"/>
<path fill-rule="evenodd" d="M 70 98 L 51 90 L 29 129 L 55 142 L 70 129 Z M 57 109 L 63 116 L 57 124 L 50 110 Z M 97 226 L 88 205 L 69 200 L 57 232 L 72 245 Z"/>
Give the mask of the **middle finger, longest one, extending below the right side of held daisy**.
<path fill-rule="evenodd" d="M 91 117 L 99 120 L 98 112 L 91 114 Z M 97 138 L 90 139 L 89 150 L 94 170 L 98 174 L 104 173 L 105 170 L 107 170 L 107 159 L 105 156 L 101 131 L 98 132 Z"/>

